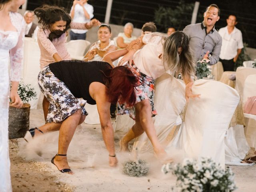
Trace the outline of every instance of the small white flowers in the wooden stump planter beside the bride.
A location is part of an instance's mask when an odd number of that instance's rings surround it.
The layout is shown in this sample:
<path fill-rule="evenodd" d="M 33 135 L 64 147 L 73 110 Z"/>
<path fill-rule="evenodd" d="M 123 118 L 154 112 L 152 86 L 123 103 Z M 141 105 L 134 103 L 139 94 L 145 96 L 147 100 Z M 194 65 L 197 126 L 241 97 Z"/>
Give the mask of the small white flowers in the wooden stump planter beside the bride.
<path fill-rule="evenodd" d="M 12 88 L 12 84 L 10 84 L 10 87 Z M 20 80 L 20 84 L 18 86 L 18 95 L 24 103 L 37 98 L 35 89 L 30 88 L 30 84 L 25 84 L 23 79 Z"/>

